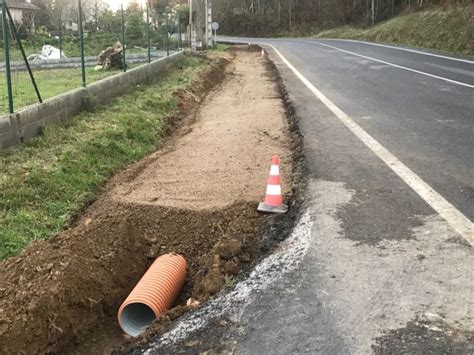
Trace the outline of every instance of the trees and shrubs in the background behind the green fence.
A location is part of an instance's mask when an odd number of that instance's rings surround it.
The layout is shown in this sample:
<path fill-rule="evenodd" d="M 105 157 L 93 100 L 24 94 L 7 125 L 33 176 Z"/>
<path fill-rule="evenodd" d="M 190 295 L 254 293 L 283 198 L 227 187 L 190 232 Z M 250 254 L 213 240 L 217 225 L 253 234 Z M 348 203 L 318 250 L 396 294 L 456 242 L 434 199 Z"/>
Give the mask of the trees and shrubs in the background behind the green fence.
<path fill-rule="evenodd" d="M 43 45 L 49 44 L 62 47 L 66 57 L 80 56 L 80 40 L 77 27 L 77 1 L 71 0 L 33 0 L 40 8 L 31 19 L 25 15 L 22 24 L 16 24 L 27 55 L 39 53 Z M 149 33 L 150 44 L 157 49 L 166 47 L 166 38 L 185 31 L 187 16 L 184 16 L 186 6 L 164 6 L 172 1 L 154 0 L 150 2 Z M 120 11 L 112 11 L 104 0 L 82 0 L 84 12 L 84 41 L 85 54 L 97 56 L 101 50 L 112 46 L 115 42 L 123 42 L 122 16 Z M 178 16 L 181 26 L 178 29 Z M 148 46 L 146 38 L 147 23 L 145 8 L 137 1 L 131 1 L 124 11 L 125 43 L 129 51 L 135 47 Z M 168 18 L 168 21 L 166 19 Z M 34 25 L 33 25 L 34 24 Z M 174 36 L 176 37 L 176 36 Z M 60 40 L 61 39 L 61 40 Z M 2 38 L 0 36 L 0 42 Z M 176 41 L 171 41 L 172 48 Z M 3 45 L 0 46 L 3 57 Z M 11 43 L 12 59 L 21 59 L 16 40 Z"/>

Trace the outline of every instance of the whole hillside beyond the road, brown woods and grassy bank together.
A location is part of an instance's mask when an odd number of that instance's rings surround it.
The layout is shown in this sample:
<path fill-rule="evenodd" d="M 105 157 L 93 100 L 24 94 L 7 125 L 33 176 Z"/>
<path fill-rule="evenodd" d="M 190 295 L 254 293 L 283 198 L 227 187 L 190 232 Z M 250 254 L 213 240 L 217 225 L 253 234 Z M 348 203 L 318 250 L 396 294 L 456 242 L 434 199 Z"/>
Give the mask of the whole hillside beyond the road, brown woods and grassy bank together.
<path fill-rule="evenodd" d="M 472 0 L 220 0 L 222 33 L 394 42 L 474 54 Z"/>

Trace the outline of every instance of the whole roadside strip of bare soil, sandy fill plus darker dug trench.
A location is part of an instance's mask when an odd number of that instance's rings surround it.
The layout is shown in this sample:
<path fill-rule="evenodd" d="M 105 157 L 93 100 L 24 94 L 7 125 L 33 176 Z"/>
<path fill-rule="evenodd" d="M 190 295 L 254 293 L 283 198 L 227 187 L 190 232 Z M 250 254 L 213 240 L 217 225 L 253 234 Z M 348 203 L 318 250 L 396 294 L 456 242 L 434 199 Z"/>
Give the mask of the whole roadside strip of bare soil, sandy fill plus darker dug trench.
<path fill-rule="evenodd" d="M 250 265 L 271 219 L 256 212 L 271 155 L 282 157 L 284 191 L 293 167 L 277 85 L 245 48 L 224 55 L 223 81 L 221 66 L 177 93 L 169 123 L 181 124 L 163 149 L 111 179 L 68 230 L 0 264 L 0 353 L 100 354 L 135 341 L 116 312 L 160 254 L 184 255 L 188 276 L 152 333 Z"/>

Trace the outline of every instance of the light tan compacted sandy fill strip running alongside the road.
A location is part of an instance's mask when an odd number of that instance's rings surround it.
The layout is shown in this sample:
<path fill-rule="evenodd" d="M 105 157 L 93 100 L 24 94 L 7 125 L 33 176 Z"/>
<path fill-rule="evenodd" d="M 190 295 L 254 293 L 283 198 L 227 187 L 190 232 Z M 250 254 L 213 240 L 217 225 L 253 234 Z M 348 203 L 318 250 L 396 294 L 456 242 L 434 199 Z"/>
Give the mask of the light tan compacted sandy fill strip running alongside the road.
<path fill-rule="evenodd" d="M 289 176 L 286 116 L 264 59 L 260 53 L 236 52 L 228 72 L 189 132 L 114 191 L 117 198 L 193 210 L 257 202 L 275 153 L 285 162 L 283 178 Z"/>

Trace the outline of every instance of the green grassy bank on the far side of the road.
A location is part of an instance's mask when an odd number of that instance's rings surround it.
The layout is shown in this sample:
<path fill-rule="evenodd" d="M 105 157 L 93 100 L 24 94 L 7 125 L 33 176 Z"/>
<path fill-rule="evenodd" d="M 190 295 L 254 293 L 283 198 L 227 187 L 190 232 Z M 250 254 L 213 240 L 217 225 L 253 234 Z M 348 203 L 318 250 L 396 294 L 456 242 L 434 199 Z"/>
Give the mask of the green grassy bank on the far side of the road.
<path fill-rule="evenodd" d="M 341 27 L 320 32 L 321 38 L 349 38 L 391 42 L 474 55 L 474 5 L 397 16 L 367 29 Z"/>

